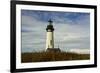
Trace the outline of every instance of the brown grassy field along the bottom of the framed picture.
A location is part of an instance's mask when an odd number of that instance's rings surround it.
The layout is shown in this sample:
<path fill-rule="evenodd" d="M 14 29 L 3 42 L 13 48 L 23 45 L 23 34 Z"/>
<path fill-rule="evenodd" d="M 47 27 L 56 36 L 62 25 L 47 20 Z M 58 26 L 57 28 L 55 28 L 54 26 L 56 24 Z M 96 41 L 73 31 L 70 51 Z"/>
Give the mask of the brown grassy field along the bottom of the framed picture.
<path fill-rule="evenodd" d="M 22 63 L 88 59 L 90 59 L 90 54 L 77 54 L 70 52 L 33 52 L 21 54 Z"/>

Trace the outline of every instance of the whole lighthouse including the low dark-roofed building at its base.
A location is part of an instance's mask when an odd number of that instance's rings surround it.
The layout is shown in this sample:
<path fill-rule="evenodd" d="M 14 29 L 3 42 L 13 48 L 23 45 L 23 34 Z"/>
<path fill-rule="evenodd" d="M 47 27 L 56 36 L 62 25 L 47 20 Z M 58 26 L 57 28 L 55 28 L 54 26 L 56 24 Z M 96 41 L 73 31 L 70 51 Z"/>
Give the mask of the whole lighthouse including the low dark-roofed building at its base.
<path fill-rule="evenodd" d="M 60 48 L 54 47 L 54 27 L 53 27 L 53 21 L 49 20 L 49 24 L 46 28 L 46 51 L 47 52 L 61 52 Z"/>

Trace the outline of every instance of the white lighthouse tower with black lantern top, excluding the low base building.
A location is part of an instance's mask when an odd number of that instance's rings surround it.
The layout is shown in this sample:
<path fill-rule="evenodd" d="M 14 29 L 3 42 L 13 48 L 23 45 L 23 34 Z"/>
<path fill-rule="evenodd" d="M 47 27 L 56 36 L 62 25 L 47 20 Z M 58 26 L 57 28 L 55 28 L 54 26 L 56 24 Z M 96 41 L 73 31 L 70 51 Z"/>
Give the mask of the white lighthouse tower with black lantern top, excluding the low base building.
<path fill-rule="evenodd" d="M 49 24 L 47 25 L 46 31 L 47 31 L 47 38 L 46 38 L 46 50 L 49 48 L 54 48 L 54 28 L 53 28 L 53 21 L 49 20 Z"/>

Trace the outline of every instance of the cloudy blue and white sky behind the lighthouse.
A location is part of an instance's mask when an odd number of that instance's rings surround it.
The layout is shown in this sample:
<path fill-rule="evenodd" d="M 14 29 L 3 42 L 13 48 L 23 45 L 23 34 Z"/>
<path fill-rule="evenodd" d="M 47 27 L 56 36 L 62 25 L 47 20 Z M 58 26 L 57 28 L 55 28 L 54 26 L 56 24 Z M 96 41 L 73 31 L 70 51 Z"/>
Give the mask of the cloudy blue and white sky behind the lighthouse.
<path fill-rule="evenodd" d="M 55 48 L 89 53 L 90 14 L 21 10 L 22 52 L 43 51 L 46 47 L 46 26 L 52 19 Z"/>

